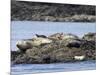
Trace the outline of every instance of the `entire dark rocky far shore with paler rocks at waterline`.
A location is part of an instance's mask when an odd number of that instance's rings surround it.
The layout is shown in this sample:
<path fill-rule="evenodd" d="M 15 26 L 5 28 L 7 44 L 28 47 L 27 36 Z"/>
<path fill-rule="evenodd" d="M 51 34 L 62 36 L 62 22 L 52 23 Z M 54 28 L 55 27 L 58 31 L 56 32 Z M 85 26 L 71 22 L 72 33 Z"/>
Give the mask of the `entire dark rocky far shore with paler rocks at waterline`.
<path fill-rule="evenodd" d="M 12 21 L 95 22 L 96 6 L 11 0 Z"/>

